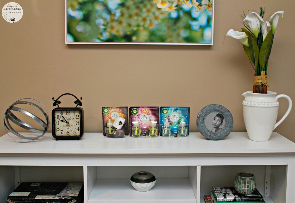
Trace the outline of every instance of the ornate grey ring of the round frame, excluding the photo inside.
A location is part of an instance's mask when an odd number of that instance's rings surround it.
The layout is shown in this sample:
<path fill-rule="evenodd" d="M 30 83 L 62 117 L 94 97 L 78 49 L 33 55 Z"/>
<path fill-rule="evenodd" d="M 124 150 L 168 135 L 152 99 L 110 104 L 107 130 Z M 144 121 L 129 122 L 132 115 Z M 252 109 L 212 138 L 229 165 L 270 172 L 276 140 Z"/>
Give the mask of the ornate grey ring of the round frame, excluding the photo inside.
<path fill-rule="evenodd" d="M 212 112 L 220 113 L 224 116 L 225 124 L 222 130 L 219 132 L 210 132 L 206 125 L 205 125 L 205 119 L 207 115 L 209 115 Z M 232 114 L 230 111 L 225 108 L 224 106 L 220 104 L 209 104 L 206 107 L 204 107 L 197 116 L 197 127 L 199 129 L 199 132 L 210 140 L 221 140 L 227 137 L 230 132 L 232 131 L 232 127 L 234 125 L 234 120 L 232 118 Z"/>

